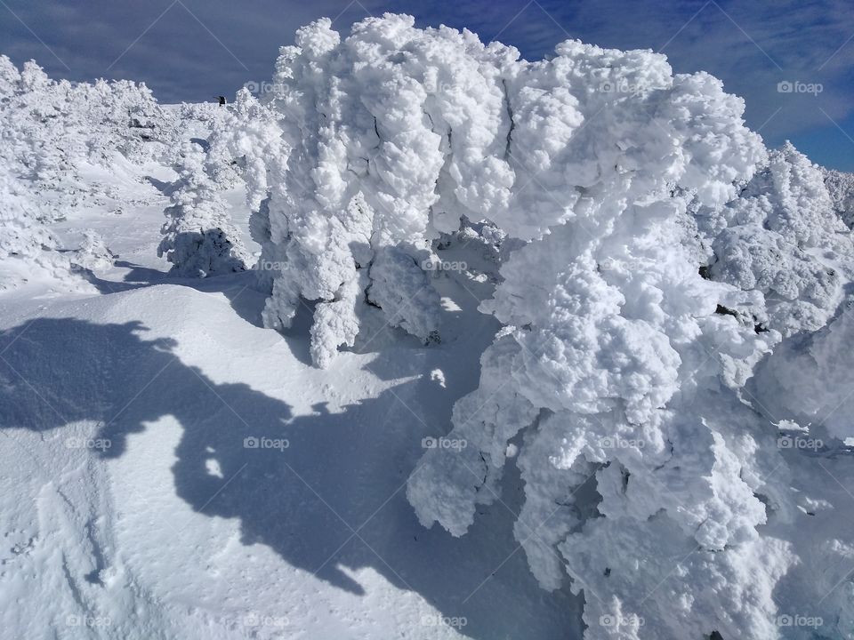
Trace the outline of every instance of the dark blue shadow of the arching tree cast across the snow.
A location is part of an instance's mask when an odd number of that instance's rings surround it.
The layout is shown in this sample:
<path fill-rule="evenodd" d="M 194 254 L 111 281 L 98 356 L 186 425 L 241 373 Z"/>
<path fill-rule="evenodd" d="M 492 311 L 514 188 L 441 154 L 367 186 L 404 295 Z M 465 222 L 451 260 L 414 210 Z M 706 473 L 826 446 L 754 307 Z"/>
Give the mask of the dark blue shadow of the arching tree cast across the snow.
<path fill-rule="evenodd" d="M 460 631 L 473 638 L 548 638 L 554 620 L 565 629 L 560 637 L 580 636 L 576 600 L 536 588 L 503 504 L 480 508 L 461 539 L 418 524 L 406 480 L 423 454 L 422 438 L 447 430 L 430 422 L 435 404 L 449 408 L 454 398 L 439 399 L 435 383 L 415 378 L 424 364 L 417 357 L 377 357 L 378 368 L 410 380 L 378 397 L 294 415 L 286 402 L 246 384 L 214 382 L 183 364 L 175 347 L 171 339 L 147 339 L 138 322 L 38 318 L 3 332 L 0 428 L 47 432 L 91 420 L 99 425 L 92 436 L 111 443 L 91 454 L 109 459 L 125 453 L 127 436 L 173 416 L 182 428 L 175 492 L 205 516 L 237 518 L 244 544 L 267 545 L 354 594 L 364 588 L 347 572 L 369 567 L 443 616 L 464 618 Z M 44 438 L 44 446 L 61 440 Z M 212 459 L 220 474 L 210 473 Z M 503 498 L 518 510 L 518 474 L 505 484 Z M 550 615 L 532 616 L 544 601 Z M 434 631 L 424 628 L 423 636 Z"/>

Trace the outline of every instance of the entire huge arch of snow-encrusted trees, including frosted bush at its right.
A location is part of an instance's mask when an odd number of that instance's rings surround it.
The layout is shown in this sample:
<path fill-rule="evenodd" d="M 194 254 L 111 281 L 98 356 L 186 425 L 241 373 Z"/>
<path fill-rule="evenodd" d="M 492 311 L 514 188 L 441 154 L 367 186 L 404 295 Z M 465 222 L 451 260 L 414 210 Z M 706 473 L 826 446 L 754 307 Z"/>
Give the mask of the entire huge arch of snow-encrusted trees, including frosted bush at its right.
<path fill-rule="evenodd" d="M 652 52 L 568 41 L 528 62 L 413 24 L 342 40 L 318 20 L 282 50 L 264 101 L 283 145 L 254 217 L 262 259 L 285 266 L 265 323 L 318 300 L 320 365 L 368 302 L 429 340 L 423 260 L 486 223 L 506 249 L 481 310 L 504 329 L 455 405 L 448 437 L 468 446 L 431 449 L 410 479 L 423 524 L 462 535 L 512 457 L 517 540 L 544 588 L 584 592 L 587 637 L 776 637 L 801 512 L 745 382 L 847 295 L 850 234 L 818 169 L 769 154 L 742 100 Z"/>

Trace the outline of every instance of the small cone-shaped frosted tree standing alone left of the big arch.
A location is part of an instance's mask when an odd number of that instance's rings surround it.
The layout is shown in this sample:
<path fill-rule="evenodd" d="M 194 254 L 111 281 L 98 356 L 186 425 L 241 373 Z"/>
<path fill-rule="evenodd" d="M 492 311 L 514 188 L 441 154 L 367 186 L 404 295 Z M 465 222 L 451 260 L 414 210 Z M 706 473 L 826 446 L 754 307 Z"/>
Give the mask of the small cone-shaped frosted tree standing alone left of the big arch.
<path fill-rule="evenodd" d="M 165 255 L 176 276 L 244 271 L 250 260 L 237 228 L 229 220 L 220 189 L 205 172 L 205 158 L 204 149 L 196 142 L 183 144 L 172 204 L 164 212 L 169 220 L 161 229 L 164 237 L 157 255 Z"/>

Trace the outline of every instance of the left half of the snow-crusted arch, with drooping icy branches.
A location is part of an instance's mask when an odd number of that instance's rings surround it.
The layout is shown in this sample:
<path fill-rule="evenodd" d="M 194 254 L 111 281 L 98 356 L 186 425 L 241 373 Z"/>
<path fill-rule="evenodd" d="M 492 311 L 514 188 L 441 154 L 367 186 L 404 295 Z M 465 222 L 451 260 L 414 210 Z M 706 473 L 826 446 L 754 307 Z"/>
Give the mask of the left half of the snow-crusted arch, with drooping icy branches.
<path fill-rule="evenodd" d="M 432 36 L 407 18 L 367 20 L 356 31 L 342 43 L 329 20 L 319 20 L 298 32 L 297 47 L 283 48 L 274 77 L 282 91 L 269 101 L 288 157 L 284 180 L 273 182 L 255 225 L 269 236 L 262 260 L 287 265 L 270 283 L 265 323 L 286 327 L 301 297 L 318 300 L 322 325 L 312 330 L 312 353 L 324 364 L 339 345 L 352 344 L 366 295 L 392 326 L 423 340 L 437 337 L 439 296 L 419 265 L 439 230 L 455 230 L 460 218 L 445 216 L 439 229 L 439 214 L 431 213 L 452 154 L 437 102 L 446 92 L 427 86 L 426 62 L 434 57 L 448 75 L 462 72 L 457 104 L 444 106 L 448 113 L 463 102 L 479 113 L 478 100 L 462 94 L 473 82 L 495 107 L 493 119 L 507 117 L 499 85 L 480 76 L 456 32 L 445 30 L 439 40 L 462 53 L 459 69 L 438 50 L 431 53 Z M 411 62 L 390 60 L 406 43 L 413 45 Z M 482 133 L 503 148 L 499 133 Z M 458 133 L 463 141 L 467 135 L 478 133 Z"/>

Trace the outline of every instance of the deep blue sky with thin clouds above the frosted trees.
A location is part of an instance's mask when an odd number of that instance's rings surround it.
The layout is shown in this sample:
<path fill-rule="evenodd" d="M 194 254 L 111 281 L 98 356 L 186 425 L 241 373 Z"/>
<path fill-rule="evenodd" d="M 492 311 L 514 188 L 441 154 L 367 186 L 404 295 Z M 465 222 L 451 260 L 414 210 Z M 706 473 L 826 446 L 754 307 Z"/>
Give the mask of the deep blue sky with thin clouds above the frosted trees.
<path fill-rule="evenodd" d="M 569 37 L 661 51 L 675 71 L 703 69 L 743 96 L 769 146 L 792 140 L 854 172 L 851 0 L 0 0 L 0 52 L 53 77 L 128 78 L 161 101 L 211 100 L 268 80 L 302 24 L 328 16 L 346 32 L 387 11 L 470 28 L 529 60 Z M 794 90 L 779 92 L 783 82 Z"/>

